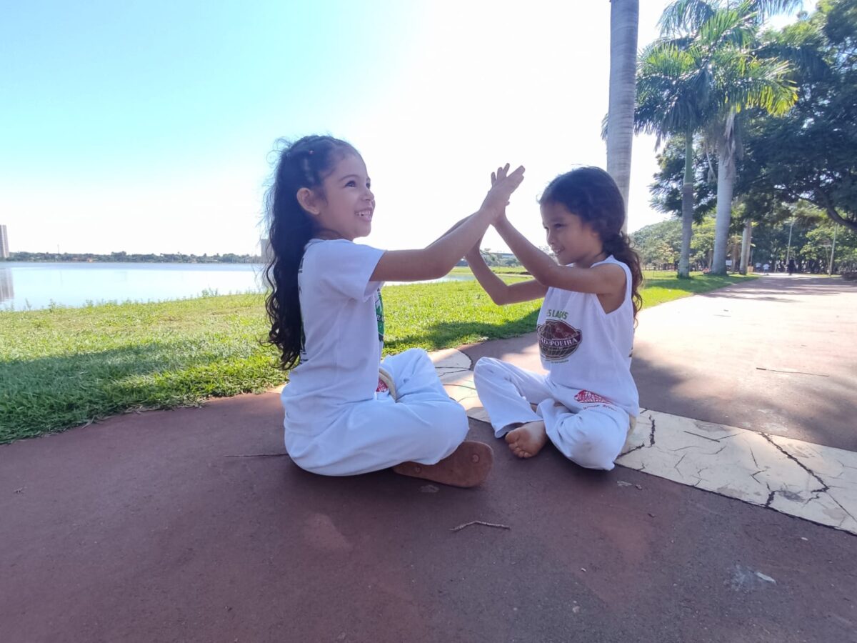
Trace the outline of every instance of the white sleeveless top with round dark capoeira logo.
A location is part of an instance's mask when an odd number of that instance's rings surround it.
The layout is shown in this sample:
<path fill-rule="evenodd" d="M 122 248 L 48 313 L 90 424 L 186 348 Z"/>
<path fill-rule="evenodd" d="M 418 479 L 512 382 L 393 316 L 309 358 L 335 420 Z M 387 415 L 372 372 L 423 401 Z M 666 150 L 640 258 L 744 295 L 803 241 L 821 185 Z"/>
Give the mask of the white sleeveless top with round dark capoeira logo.
<path fill-rule="evenodd" d="M 536 327 L 542 366 L 554 384 L 580 389 L 575 396 L 579 402 L 606 399 L 636 417 L 639 398 L 631 376 L 631 270 L 613 255 L 593 266 L 602 263 L 614 263 L 625 271 L 621 305 L 605 313 L 595 294 L 548 288 Z"/>

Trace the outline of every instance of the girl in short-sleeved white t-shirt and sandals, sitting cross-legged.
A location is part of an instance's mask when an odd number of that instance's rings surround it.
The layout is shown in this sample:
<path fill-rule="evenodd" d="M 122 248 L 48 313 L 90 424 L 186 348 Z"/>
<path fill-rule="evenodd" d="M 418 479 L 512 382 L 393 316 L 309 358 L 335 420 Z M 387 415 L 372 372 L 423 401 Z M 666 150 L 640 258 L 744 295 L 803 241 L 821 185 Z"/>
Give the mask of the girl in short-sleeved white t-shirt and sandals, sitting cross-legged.
<path fill-rule="evenodd" d="M 508 166 L 476 213 L 424 249 L 354 243 L 372 229 L 375 195 L 345 141 L 306 136 L 279 154 L 267 214 L 269 340 L 291 368 L 283 389 L 285 449 L 301 468 L 351 476 L 387 467 L 442 484 L 480 484 L 491 448 L 466 442 L 464 408 L 446 394 L 425 351 L 381 361 L 387 280 L 448 273 L 503 213 L 524 179 Z M 297 365 L 296 365 L 297 364 Z"/>

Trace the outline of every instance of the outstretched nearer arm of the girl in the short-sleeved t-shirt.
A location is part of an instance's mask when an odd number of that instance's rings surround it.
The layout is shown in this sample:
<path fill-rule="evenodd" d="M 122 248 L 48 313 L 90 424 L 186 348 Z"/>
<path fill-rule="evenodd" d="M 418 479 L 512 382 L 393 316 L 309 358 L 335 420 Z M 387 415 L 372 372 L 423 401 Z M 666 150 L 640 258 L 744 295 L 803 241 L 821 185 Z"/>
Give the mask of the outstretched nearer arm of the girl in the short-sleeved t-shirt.
<path fill-rule="evenodd" d="M 500 216 L 512 192 L 524 180 L 524 167 L 507 174 L 502 168 L 497 181 L 488 190 L 482 207 L 460 221 L 434 243 L 418 250 L 387 250 L 372 273 L 373 281 L 417 281 L 439 279 L 452 270 L 474 243 L 482 238 L 488 225 Z"/>

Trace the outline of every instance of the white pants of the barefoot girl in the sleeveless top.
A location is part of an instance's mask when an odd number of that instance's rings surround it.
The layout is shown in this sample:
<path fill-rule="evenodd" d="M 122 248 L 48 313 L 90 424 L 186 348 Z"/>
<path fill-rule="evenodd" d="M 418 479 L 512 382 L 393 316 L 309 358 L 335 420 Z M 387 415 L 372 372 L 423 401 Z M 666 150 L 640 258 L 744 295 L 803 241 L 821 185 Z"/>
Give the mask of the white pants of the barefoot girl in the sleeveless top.
<path fill-rule="evenodd" d="M 578 402 L 579 388 L 560 386 L 499 359 L 480 359 L 473 375 L 494 436 L 505 436 L 511 424 L 543 420 L 548 439 L 572 462 L 587 469 L 614 467 L 631 419 L 623 409 L 605 402 Z M 536 405 L 536 411 L 530 405 Z"/>

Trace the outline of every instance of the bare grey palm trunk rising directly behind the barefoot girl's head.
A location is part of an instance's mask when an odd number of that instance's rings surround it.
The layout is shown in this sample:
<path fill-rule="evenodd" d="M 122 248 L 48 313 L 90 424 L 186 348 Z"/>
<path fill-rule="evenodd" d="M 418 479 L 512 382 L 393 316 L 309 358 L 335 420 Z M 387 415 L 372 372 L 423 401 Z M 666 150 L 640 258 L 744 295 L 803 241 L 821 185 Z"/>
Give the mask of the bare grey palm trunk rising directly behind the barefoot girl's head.
<path fill-rule="evenodd" d="M 631 183 L 631 146 L 637 69 L 639 0 L 610 0 L 610 102 L 607 117 L 607 171 L 625 201 Z"/>

